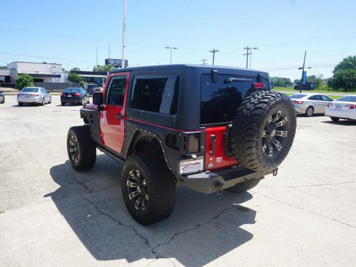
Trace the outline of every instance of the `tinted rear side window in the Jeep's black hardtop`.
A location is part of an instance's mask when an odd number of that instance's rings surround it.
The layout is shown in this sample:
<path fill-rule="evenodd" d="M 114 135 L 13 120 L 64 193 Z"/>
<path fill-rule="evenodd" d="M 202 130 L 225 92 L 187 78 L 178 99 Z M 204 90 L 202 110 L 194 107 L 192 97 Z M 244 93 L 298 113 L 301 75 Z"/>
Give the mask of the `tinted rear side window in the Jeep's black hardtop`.
<path fill-rule="evenodd" d="M 163 114 L 177 113 L 179 75 L 136 75 L 131 108 Z"/>

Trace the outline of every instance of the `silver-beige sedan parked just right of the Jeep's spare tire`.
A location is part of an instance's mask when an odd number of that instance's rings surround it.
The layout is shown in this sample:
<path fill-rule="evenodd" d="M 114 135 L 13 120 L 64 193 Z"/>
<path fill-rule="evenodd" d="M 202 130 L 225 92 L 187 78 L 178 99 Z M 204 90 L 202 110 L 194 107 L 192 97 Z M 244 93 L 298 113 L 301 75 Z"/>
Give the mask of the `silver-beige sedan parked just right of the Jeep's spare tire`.
<path fill-rule="evenodd" d="M 318 93 L 293 94 L 289 98 L 293 101 L 295 111 L 308 117 L 313 114 L 325 114 L 326 104 L 333 101 L 329 96 Z"/>

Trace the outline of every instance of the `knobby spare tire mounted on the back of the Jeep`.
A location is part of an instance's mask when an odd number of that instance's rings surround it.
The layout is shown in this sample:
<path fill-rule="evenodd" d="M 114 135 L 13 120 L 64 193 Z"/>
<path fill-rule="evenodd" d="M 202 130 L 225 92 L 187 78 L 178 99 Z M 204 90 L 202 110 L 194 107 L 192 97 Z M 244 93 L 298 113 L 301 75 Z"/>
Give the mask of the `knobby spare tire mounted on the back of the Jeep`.
<path fill-rule="evenodd" d="M 246 168 L 272 172 L 286 158 L 296 127 L 295 109 L 287 95 L 256 91 L 237 109 L 231 128 L 231 152 Z"/>

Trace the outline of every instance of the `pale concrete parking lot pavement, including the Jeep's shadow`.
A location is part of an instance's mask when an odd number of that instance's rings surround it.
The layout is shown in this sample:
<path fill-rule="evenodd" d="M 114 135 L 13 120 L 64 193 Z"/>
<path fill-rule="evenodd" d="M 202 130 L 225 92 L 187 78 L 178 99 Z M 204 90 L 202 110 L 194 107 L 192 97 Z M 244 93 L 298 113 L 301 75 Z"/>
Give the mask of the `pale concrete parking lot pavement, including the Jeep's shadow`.
<path fill-rule="evenodd" d="M 355 266 L 356 122 L 298 116 L 279 167 L 244 194 L 179 187 L 173 214 L 141 226 L 120 164 L 70 167 L 80 106 L 0 104 L 1 266 Z"/>

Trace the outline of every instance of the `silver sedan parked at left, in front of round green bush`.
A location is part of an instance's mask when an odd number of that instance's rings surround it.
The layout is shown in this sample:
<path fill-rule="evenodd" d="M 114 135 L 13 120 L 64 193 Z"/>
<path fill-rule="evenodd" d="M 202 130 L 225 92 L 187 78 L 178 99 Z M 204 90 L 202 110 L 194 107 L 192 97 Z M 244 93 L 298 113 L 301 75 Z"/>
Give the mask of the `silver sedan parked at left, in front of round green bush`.
<path fill-rule="evenodd" d="M 51 94 L 42 87 L 25 87 L 17 94 L 17 103 L 22 106 L 23 103 L 35 103 L 44 106 L 46 103 L 52 103 Z"/>

